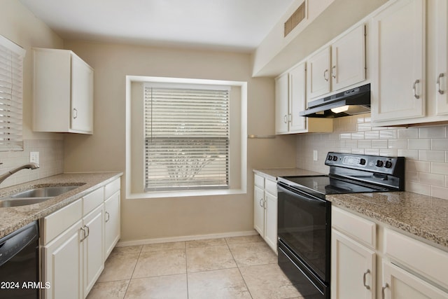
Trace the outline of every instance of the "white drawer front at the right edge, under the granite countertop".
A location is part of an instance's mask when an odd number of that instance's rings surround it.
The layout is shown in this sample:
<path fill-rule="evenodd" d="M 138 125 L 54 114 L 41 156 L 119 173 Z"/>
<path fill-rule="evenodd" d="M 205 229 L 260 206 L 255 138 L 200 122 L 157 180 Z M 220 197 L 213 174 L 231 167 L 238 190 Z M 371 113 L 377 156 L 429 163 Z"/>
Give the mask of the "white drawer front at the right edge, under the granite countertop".
<path fill-rule="evenodd" d="M 405 267 L 448 288 L 448 252 L 412 239 L 400 232 L 385 230 L 384 252 Z"/>

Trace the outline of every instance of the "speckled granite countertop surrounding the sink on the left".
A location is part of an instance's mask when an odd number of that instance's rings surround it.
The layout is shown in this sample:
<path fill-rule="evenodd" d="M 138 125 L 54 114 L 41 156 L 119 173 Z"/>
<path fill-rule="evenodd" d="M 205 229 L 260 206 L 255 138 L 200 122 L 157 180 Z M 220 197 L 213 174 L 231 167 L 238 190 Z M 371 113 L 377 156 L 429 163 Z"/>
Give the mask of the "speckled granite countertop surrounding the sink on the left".
<path fill-rule="evenodd" d="M 31 221 L 35 221 L 51 214 L 57 209 L 78 200 L 87 193 L 118 179 L 118 177 L 122 175 L 123 172 L 57 174 L 55 176 L 48 176 L 45 179 L 38 179 L 20 185 L 0 188 L 0 197 L 4 197 L 20 190 L 35 188 L 36 186 L 78 185 L 84 183 L 78 188 L 51 198 L 50 200 L 46 200 L 45 202 L 22 207 L 0 207 L 0 237 L 18 230 L 22 226 L 31 223 Z"/>

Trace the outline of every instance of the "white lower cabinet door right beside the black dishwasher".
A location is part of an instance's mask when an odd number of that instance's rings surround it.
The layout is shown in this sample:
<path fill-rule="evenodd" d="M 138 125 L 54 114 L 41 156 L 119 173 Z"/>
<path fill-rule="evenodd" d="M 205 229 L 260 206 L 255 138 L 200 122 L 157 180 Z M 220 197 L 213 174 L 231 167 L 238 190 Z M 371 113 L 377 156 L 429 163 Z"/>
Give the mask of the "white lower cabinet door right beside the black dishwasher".
<path fill-rule="evenodd" d="M 46 299 L 83 298 L 81 225 L 78 221 L 43 247 L 43 281 L 51 286 L 45 289 Z"/>

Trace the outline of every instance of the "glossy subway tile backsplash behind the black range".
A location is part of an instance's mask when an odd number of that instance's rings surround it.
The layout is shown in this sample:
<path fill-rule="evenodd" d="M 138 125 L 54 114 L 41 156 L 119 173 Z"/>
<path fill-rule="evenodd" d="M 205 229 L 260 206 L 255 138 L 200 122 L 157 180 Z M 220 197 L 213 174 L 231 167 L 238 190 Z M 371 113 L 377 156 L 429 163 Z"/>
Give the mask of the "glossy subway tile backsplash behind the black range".
<path fill-rule="evenodd" d="M 448 125 L 372 127 L 369 113 L 333 121 L 332 133 L 297 135 L 297 167 L 328 173 L 328 151 L 404 156 L 406 190 L 448 200 Z"/>

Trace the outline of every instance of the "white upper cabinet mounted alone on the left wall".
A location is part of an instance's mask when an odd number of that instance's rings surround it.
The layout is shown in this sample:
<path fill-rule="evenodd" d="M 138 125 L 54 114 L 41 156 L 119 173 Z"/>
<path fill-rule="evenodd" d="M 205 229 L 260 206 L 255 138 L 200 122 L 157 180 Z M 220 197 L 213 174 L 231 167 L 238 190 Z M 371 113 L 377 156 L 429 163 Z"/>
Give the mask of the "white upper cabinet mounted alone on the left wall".
<path fill-rule="evenodd" d="M 93 132 L 93 69 L 70 50 L 34 48 L 34 131 Z"/>

